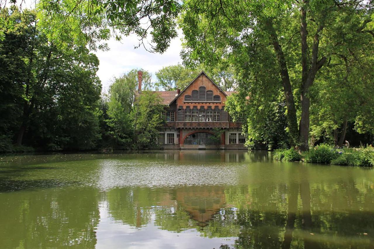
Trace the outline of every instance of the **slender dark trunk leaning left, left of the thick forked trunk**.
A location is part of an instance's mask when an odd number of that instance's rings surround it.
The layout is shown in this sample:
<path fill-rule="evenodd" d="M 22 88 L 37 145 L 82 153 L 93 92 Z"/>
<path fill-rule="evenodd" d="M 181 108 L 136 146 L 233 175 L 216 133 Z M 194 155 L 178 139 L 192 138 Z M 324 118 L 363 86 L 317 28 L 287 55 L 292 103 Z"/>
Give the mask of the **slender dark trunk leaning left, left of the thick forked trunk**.
<path fill-rule="evenodd" d="M 279 44 L 278 36 L 273 27 L 273 22 L 271 19 L 267 19 L 266 27 L 269 30 L 269 34 L 273 43 L 274 51 L 279 63 L 279 74 L 282 78 L 283 91 L 286 97 L 286 106 L 287 106 L 287 123 L 289 134 L 291 136 L 291 146 L 296 146 L 298 143 L 298 127 L 297 127 L 297 118 L 296 118 L 296 108 L 294 95 L 292 93 L 292 86 L 289 80 L 288 69 L 286 64 L 286 59 L 284 57 L 282 47 Z"/>

